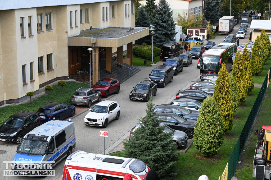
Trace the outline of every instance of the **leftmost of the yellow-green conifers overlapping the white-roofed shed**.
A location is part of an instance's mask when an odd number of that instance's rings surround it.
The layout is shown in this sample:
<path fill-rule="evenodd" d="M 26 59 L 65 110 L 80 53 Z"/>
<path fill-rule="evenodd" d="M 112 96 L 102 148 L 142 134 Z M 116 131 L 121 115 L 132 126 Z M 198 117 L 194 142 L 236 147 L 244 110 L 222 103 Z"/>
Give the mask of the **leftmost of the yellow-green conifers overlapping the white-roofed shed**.
<path fill-rule="evenodd" d="M 253 75 L 260 74 L 263 69 L 263 49 L 259 36 L 257 36 L 254 41 L 250 58 L 250 67 Z"/>

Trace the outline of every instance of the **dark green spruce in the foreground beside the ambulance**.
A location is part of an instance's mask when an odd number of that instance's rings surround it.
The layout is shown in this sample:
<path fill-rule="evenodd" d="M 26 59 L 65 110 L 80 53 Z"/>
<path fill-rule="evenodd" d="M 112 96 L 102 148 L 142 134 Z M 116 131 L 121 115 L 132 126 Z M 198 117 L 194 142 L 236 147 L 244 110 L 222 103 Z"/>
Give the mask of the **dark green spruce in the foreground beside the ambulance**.
<path fill-rule="evenodd" d="M 175 166 L 177 164 L 179 152 L 176 144 L 172 143 L 172 133 L 164 133 L 160 127 L 161 120 L 153 116 L 154 104 L 152 97 L 147 103 L 146 117 L 140 118 L 141 127 L 137 128 L 132 140 L 126 140 L 125 156 L 137 158 L 157 172 L 160 179 L 168 179 L 175 176 Z"/>

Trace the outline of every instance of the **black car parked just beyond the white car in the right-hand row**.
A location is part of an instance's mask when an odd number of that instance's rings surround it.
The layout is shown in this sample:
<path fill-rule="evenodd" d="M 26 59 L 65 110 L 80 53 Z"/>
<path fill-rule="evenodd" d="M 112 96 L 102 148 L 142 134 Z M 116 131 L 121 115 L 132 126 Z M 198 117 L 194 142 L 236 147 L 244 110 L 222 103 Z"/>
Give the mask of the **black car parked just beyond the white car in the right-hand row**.
<path fill-rule="evenodd" d="M 207 97 L 211 97 L 211 94 L 208 94 L 202 90 L 197 89 L 179 90 L 178 93 L 176 94 L 176 99 L 189 98 L 198 100 L 199 102 L 202 102 Z"/>

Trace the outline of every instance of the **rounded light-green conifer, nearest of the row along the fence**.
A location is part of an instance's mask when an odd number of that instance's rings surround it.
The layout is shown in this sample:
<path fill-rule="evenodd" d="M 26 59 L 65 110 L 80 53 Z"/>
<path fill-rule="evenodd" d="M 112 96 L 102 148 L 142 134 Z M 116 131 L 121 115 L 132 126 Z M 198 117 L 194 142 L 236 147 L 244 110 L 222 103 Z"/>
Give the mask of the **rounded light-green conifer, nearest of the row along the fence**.
<path fill-rule="evenodd" d="M 199 110 L 193 136 L 193 144 L 201 155 L 218 154 L 224 140 L 222 119 L 215 100 L 207 97 Z"/>

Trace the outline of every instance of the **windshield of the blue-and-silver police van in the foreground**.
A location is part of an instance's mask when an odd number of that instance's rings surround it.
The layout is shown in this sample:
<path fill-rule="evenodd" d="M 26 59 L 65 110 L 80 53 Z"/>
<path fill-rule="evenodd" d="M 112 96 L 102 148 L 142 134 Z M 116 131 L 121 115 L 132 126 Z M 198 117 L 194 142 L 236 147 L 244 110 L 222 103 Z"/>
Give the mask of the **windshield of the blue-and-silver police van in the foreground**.
<path fill-rule="evenodd" d="M 46 153 L 47 141 L 23 139 L 17 152 L 31 155 L 44 155 Z"/>

